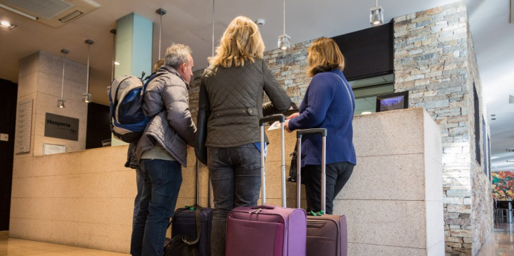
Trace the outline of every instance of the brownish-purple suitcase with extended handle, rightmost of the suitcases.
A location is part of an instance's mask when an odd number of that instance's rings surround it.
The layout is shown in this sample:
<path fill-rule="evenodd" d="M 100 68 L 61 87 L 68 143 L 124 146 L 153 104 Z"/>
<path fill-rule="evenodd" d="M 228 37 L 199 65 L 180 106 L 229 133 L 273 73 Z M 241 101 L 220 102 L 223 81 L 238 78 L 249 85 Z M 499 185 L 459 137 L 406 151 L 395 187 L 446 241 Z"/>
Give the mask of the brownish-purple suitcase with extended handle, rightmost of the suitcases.
<path fill-rule="evenodd" d="M 327 181 L 325 173 L 325 149 L 327 129 L 305 129 L 297 131 L 297 181 L 301 181 L 301 136 L 305 134 L 321 133 L 322 160 L 321 160 L 321 208 L 325 211 Z M 300 208 L 301 183 L 297 182 L 297 208 Z M 346 216 L 329 215 L 307 216 L 307 256 L 347 256 L 348 231 Z"/>

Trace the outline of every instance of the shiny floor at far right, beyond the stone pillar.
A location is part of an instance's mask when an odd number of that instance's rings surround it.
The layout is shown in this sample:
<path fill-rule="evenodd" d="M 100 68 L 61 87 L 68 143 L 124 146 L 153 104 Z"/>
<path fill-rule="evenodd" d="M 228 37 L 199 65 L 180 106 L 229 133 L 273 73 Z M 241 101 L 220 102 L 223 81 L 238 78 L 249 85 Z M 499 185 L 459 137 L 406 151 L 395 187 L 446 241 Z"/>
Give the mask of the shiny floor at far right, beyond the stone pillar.
<path fill-rule="evenodd" d="M 476 256 L 514 256 L 514 224 L 495 222 Z"/>

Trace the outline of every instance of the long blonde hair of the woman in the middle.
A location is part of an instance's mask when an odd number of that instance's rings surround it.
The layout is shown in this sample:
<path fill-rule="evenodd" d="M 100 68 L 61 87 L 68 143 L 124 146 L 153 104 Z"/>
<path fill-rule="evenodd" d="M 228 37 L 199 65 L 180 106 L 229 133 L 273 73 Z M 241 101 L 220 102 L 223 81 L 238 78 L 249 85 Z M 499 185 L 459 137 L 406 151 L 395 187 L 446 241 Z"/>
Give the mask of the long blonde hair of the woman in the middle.
<path fill-rule="evenodd" d="M 210 65 L 230 68 L 245 66 L 264 56 L 264 41 L 257 24 L 248 17 L 235 17 L 223 33 L 216 55 L 208 59 Z"/>

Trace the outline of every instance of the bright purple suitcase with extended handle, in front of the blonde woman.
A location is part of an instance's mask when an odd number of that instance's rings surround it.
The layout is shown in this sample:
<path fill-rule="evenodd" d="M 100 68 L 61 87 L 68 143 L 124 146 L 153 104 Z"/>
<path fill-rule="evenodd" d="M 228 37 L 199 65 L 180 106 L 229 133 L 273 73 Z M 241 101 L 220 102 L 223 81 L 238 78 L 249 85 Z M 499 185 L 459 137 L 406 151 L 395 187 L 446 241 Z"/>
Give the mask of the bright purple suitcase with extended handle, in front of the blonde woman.
<path fill-rule="evenodd" d="M 304 209 L 285 208 L 284 116 L 259 119 L 261 145 L 266 121 L 280 121 L 282 207 L 266 205 L 264 155 L 261 153 L 261 206 L 236 207 L 227 218 L 226 256 L 305 256 L 307 217 Z"/>

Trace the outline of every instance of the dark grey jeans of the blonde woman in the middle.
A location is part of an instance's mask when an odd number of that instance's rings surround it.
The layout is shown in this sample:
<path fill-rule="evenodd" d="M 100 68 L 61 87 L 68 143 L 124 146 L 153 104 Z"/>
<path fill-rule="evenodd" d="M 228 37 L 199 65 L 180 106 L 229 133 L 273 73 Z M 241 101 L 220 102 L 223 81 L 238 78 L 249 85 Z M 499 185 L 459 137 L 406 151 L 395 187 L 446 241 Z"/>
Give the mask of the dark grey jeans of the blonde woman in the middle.
<path fill-rule="evenodd" d="M 227 215 L 237 206 L 255 206 L 261 189 L 260 152 L 254 144 L 207 148 L 214 216 L 211 256 L 225 255 Z"/>

